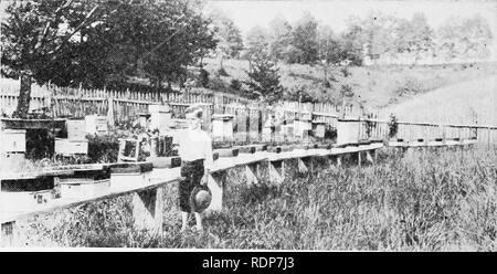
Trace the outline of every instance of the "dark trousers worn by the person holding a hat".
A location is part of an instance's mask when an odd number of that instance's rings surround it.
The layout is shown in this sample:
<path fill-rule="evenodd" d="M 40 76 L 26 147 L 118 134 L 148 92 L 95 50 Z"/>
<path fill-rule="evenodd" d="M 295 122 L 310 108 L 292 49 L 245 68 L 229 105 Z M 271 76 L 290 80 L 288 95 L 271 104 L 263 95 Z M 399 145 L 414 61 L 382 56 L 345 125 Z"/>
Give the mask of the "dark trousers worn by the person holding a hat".
<path fill-rule="evenodd" d="M 184 177 L 178 185 L 179 208 L 183 212 L 192 212 L 190 207 L 190 194 L 195 187 L 200 187 L 200 180 L 204 173 L 203 159 L 194 161 L 183 161 L 181 165 L 181 177 Z"/>

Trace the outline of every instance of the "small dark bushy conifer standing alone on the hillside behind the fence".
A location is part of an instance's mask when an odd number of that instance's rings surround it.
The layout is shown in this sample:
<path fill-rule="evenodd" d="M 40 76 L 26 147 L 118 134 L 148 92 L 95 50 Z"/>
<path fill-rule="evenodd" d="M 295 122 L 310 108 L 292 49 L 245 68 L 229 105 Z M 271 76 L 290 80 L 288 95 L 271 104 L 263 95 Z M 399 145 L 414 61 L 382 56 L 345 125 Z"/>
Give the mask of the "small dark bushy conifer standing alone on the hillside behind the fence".
<path fill-rule="evenodd" d="M 253 54 L 252 63 L 252 72 L 246 72 L 250 77 L 250 81 L 245 82 L 248 91 L 268 104 L 281 99 L 283 87 L 279 83 L 279 73 L 275 63 L 271 60 L 268 51 L 263 50 Z"/>

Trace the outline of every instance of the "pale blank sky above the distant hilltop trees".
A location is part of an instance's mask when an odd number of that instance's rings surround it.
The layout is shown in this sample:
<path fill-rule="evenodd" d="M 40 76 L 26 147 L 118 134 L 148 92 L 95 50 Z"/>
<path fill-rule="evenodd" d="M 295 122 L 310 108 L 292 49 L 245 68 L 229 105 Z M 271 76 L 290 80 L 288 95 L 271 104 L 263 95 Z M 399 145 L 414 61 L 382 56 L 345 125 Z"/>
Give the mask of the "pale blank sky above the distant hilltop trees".
<path fill-rule="evenodd" d="M 243 34 L 254 25 L 267 25 L 281 14 L 290 23 L 297 21 L 304 12 L 310 12 L 318 21 L 328 24 L 336 32 L 346 28 L 350 15 L 364 18 L 371 11 L 380 11 L 399 18 L 411 19 L 415 12 L 423 12 L 429 24 L 436 28 L 450 15 L 485 17 L 497 36 L 496 1 L 384 1 L 384 0 L 309 0 L 309 1 L 207 1 L 204 11 L 213 9 L 224 11 L 242 30 Z"/>

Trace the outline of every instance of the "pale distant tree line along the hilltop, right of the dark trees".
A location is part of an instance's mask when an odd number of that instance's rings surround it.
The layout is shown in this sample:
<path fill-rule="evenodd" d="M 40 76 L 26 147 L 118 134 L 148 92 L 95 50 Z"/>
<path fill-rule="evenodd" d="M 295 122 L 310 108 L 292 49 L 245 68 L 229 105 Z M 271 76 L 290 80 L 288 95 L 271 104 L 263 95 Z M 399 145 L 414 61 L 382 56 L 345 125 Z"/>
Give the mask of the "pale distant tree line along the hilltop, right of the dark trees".
<path fill-rule="evenodd" d="M 236 28 L 232 22 L 224 27 Z M 252 28 L 245 41 L 239 30 L 223 33 L 226 34 L 224 46 L 231 45 L 221 52 L 226 56 L 250 60 L 265 49 L 268 57 L 277 62 L 328 65 L 361 65 L 364 57 L 374 60 L 401 54 L 412 54 L 416 60 L 484 60 L 490 54 L 493 40 L 490 25 L 482 15 L 452 17 L 434 29 L 420 12 L 411 19 L 380 12 L 371 12 L 363 19 L 352 17 L 340 33 L 335 33 L 310 13 L 305 13 L 294 24 L 277 15 L 268 25 Z"/>

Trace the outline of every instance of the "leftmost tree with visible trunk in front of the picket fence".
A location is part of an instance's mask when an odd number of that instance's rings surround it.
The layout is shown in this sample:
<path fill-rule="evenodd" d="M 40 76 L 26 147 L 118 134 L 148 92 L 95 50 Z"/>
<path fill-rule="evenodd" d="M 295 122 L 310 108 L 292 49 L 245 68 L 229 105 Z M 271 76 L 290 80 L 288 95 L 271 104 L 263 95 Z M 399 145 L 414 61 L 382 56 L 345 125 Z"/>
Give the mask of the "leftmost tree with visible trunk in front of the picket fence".
<path fill-rule="evenodd" d="M 12 2 L 1 24 L 2 64 L 21 77 L 19 103 L 14 116 L 27 117 L 31 97 L 31 77 L 47 78 L 51 67 L 62 71 L 72 65 L 74 44 L 81 33 L 97 21 L 98 1 Z M 78 39 L 80 36 L 80 39 Z M 55 77 L 67 76 L 67 71 Z"/>

